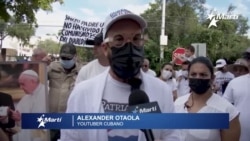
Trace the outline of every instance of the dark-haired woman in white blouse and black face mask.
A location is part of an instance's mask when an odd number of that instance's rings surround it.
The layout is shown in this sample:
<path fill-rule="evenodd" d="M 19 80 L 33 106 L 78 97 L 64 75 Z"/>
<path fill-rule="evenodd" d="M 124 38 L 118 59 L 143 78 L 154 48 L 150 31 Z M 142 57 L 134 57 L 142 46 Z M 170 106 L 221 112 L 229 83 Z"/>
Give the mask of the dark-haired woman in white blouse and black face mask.
<path fill-rule="evenodd" d="M 195 58 L 188 67 L 191 93 L 175 101 L 177 113 L 229 113 L 229 129 L 182 130 L 185 141 L 239 141 L 239 112 L 224 98 L 212 91 L 214 71 L 211 61 Z"/>

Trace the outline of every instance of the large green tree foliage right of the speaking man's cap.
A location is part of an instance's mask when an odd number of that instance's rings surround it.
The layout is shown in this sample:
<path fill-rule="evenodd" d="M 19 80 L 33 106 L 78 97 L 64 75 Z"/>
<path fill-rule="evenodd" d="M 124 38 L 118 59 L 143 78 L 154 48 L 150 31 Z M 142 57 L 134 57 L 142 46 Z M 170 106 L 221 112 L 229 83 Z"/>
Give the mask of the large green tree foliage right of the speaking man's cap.
<path fill-rule="evenodd" d="M 172 51 L 191 43 L 206 43 L 207 55 L 215 61 L 218 58 L 235 60 L 242 51 L 250 46 L 250 39 L 245 35 L 249 29 L 248 19 L 242 15 L 236 20 L 220 20 L 217 27 L 208 25 L 205 0 L 168 0 L 166 4 L 166 29 L 168 45 L 164 48 L 164 62 L 172 60 Z M 148 22 L 146 33 L 149 40 L 145 44 L 145 56 L 150 59 L 151 67 L 160 68 L 160 34 L 162 1 L 155 0 L 141 14 Z M 235 6 L 229 5 L 228 13 L 233 13 Z"/>

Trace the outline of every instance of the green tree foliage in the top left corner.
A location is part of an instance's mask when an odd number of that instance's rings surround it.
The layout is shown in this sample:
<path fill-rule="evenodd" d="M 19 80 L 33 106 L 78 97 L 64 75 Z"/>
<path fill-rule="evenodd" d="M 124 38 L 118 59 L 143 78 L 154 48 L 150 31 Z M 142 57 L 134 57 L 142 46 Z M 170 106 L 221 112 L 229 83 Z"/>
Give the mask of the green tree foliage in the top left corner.
<path fill-rule="evenodd" d="M 63 0 L 1 0 L 0 18 L 9 21 L 13 16 L 17 22 L 36 23 L 35 13 L 39 9 L 52 11 L 54 2 L 62 4 Z"/>

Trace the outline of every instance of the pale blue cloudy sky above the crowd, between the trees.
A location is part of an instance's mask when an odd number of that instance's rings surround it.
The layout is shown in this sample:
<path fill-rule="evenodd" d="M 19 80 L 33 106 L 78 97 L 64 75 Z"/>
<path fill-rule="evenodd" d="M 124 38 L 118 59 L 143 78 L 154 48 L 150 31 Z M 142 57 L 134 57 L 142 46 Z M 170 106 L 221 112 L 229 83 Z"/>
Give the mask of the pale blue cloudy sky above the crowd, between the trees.
<path fill-rule="evenodd" d="M 56 34 L 63 25 L 65 15 L 68 14 L 85 21 L 103 21 L 112 11 L 126 8 L 136 14 L 143 13 L 154 0 L 64 0 L 63 5 L 53 4 L 53 12 L 39 11 L 36 14 L 40 27 L 36 36 Z M 204 5 L 208 9 L 215 9 L 225 13 L 230 4 L 237 8 L 234 14 L 242 14 L 250 20 L 250 0 L 207 0 Z M 250 25 L 250 21 L 248 22 Z M 250 37 L 250 30 L 248 32 Z"/>

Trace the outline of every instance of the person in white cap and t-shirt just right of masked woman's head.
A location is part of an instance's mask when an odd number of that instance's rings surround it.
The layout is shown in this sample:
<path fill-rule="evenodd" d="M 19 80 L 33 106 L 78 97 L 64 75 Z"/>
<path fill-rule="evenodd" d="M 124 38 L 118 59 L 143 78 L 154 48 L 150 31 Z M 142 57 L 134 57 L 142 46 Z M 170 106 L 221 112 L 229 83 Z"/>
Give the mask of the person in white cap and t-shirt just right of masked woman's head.
<path fill-rule="evenodd" d="M 234 75 L 228 71 L 225 59 L 217 60 L 215 68 L 217 72 L 215 73 L 214 91 L 219 95 L 223 95 L 228 82 L 234 79 Z"/>

